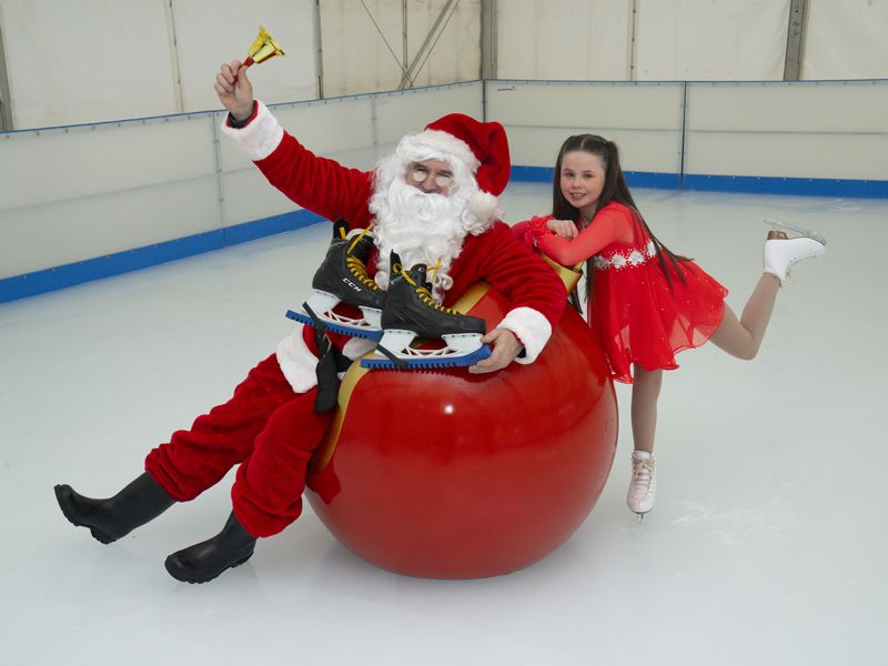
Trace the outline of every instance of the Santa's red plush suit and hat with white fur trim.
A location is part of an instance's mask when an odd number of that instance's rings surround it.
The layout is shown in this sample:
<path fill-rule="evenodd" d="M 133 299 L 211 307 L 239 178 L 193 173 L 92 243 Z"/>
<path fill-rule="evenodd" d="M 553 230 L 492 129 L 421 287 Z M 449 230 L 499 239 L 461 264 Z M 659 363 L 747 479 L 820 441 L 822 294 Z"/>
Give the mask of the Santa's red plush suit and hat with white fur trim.
<path fill-rule="evenodd" d="M 450 118 L 450 117 L 445 117 Z M 465 117 L 463 117 L 465 118 Z M 444 120 L 444 119 L 442 119 Z M 471 119 L 467 119 L 471 121 Z M 508 179 L 505 134 L 491 145 L 476 132 L 455 129 L 447 122 L 426 133 L 443 148 L 434 158 L 457 157 L 470 168 L 483 190 L 496 195 Z M 430 125 L 430 128 L 433 128 Z M 456 125 L 454 125 L 456 127 Z M 299 205 L 330 220 L 344 219 L 351 228 L 363 228 L 372 214 L 372 172 L 347 169 L 319 158 L 284 132 L 269 110 L 258 102 L 250 122 L 223 132 L 254 160 L 269 181 Z M 460 135 L 462 134 L 462 135 Z M 420 134 L 422 135 L 422 133 Z M 505 152 L 504 152 L 505 150 Z M 473 158 L 477 158 L 476 161 Z M 403 176 L 402 176 L 403 178 Z M 512 331 L 524 345 L 516 359 L 531 363 L 542 351 L 561 317 L 566 293 L 561 280 L 513 236 L 508 226 L 491 220 L 484 231 L 467 234 L 448 268 L 444 305 L 452 305 L 472 284 L 484 280 L 505 294 L 513 307 L 497 325 Z M 340 341 L 341 342 L 341 341 Z M 340 345 L 355 359 L 369 351 L 366 341 L 350 339 Z M 240 464 L 232 487 L 233 511 L 253 536 L 279 533 L 302 511 L 305 470 L 320 445 L 332 413 L 316 413 L 316 347 L 311 329 L 299 326 L 282 341 L 274 354 L 250 371 L 232 398 L 199 416 L 191 430 L 173 433 L 171 441 L 152 450 L 145 470 L 176 501 L 192 500 Z"/>

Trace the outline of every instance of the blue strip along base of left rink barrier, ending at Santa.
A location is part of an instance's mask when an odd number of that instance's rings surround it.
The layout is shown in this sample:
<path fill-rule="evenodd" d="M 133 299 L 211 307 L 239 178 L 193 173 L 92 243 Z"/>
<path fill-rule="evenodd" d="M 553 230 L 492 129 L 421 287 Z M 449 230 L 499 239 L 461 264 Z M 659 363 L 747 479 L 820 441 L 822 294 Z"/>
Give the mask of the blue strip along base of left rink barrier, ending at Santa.
<path fill-rule="evenodd" d="M 107 256 L 6 278 L 0 280 L 0 303 L 221 250 L 268 235 L 302 229 L 321 220 L 323 218 L 310 211 L 293 211 Z"/>

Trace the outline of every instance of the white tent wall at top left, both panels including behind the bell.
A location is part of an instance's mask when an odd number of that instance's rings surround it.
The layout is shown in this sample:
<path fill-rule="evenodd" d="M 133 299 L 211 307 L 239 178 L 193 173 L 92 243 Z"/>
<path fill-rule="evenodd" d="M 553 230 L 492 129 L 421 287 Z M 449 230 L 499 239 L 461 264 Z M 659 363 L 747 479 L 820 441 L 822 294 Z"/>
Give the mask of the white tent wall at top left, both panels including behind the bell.
<path fill-rule="evenodd" d="M 0 0 L 16 129 L 218 109 L 213 79 L 259 26 L 286 58 L 250 71 L 268 102 L 316 97 L 313 0 Z"/>

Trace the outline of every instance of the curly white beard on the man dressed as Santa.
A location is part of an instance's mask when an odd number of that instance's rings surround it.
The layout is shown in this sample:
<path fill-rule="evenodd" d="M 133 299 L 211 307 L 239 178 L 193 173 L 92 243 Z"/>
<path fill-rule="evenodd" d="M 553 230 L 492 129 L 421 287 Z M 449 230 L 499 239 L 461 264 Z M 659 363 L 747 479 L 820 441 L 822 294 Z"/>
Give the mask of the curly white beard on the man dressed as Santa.
<path fill-rule="evenodd" d="M 381 165 L 370 201 L 370 210 L 376 215 L 373 235 L 380 251 L 374 278 L 382 289 L 389 287 L 389 254 L 394 250 L 407 270 L 417 263 L 426 264 L 426 280 L 440 303 L 453 285 L 451 264 L 460 255 L 465 236 L 482 233 L 487 226 L 468 211 L 468 199 L 477 184 L 471 174 L 462 183 L 457 175 L 448 195 L 426 194 L 404 180 L 403 163 L 391 179 L 386 178 L 385 167 L 394 164 Z"/>

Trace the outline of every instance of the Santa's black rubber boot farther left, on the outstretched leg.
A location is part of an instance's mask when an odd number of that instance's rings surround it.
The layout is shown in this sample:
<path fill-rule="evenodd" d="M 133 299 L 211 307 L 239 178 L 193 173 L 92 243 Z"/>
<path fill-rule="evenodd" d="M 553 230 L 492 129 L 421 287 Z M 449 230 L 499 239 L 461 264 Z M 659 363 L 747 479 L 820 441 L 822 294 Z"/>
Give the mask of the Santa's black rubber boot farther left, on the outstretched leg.
<path fill-rule="evenodd" d="M 67 484 L 56 486 L 56 500 L 71 524 L 88 527 L 103 544 L 127 536 L 175 503 L 148 472 L 107 500 L 84 497 Z"/>

